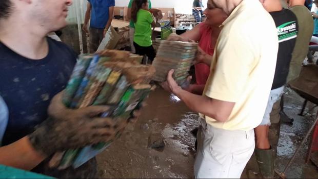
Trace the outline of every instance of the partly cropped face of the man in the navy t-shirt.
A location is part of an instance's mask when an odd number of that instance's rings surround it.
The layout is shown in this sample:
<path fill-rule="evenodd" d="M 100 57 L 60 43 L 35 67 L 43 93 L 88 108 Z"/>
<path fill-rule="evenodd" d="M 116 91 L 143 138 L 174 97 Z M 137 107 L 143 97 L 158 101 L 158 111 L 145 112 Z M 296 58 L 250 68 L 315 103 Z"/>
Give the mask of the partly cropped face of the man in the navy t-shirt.
<path fill-rule="evenodd" d="M 70 5 L 72 0 L 31 0 L 29 15 L 39 26 L 55 31 L 67 25 Z"/>

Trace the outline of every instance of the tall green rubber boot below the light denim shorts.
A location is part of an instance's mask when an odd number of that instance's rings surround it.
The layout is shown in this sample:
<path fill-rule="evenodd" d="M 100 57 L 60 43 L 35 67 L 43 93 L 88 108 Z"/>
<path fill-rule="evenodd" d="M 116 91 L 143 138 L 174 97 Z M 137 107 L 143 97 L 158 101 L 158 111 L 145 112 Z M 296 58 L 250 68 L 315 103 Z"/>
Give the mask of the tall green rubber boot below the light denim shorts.
<path fill-rule="evenodd" d="M 256 161 L 263 178 L 274 178 L 274 156 L 272 149 L 255 149 Z"/>

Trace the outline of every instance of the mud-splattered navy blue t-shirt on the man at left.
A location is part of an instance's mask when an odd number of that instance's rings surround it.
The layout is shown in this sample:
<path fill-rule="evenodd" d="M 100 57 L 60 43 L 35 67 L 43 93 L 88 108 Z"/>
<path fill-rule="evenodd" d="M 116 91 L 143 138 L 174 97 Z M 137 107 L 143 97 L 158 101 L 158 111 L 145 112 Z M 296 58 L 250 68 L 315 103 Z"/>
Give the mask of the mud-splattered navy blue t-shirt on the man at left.
<path fill-rule="evenodd" d="M 72 73 L 75 52 L 47 39 L 49 53 L 39 60 L 23 57 L 0 42 L 0 95 L 9 109 L 3 145 L 19 140 L 46 120 L 51 98 L 65 88 Z"/>

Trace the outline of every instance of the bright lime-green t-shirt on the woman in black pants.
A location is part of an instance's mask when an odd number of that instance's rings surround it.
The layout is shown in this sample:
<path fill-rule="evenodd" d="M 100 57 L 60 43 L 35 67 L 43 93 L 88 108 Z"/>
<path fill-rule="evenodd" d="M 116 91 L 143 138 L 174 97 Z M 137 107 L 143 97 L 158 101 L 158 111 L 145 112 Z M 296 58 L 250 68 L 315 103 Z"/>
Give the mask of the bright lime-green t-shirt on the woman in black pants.
<path fill-rule="evenodd" d="M 140 9 L 137 12 L 137 22 L 135 25 L 135 33 L 133 41 L 142 46 L 149 47 L 152 45 L 151 41 L 151 23 L 153 22 L 152 15 L 149 11 Z"/>

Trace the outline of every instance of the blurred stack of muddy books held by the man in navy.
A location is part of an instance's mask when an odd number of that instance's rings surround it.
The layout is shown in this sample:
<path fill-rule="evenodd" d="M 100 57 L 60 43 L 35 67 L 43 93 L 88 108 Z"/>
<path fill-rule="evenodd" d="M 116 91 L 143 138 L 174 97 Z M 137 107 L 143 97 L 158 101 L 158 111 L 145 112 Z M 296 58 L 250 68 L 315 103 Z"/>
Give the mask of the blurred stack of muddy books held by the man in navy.
<path fill-rule="evenodd" d="M 149 83 L 155 69 L 140 65 L 140 59 L 129 52 L 116 50 L 80 55 L 64 91 L 63 103 L 72 109 L 108 105 L 110 110 L 101 114 L 102 117 L 111 117 L 118 122 L 129 120 L 154 89 Z M 117 133 L 113 140 L 120 135 Z M 102 152 L 113 140 L 55 153 L 49 166 L 77 168 Z"/>

